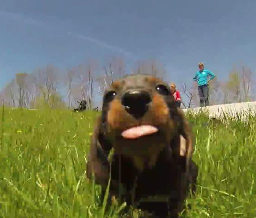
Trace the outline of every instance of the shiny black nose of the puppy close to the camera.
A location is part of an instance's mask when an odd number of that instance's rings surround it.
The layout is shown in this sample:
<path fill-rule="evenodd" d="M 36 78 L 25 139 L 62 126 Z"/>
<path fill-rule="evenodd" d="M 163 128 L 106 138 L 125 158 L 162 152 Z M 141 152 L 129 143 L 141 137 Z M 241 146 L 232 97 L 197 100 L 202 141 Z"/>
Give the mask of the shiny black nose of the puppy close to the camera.
<path fill-rule="evenodd" d="M 125 106 L 125 110 L 136 119 L 141 118 L 147 112 L 150 102 L 149 92 L 143 90 L 126 92 L 122 98 L 122 105 Z"/>

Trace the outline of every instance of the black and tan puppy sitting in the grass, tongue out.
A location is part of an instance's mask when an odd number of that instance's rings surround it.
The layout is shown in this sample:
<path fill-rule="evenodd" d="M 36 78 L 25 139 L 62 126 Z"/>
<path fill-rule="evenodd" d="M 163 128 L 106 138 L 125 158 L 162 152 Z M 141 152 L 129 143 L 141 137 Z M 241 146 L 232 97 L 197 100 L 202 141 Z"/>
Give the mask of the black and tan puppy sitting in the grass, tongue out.
<path fill-rule="evenodd" d="M 198 168 L 191 159 L 192 143 L 192 131 L 168 84 L 150 75 L 129 75 L 104 93 L 87 177 L 94 173 L 96 184 L 106 190 L 111 172 L 110 196 L 154 217 L 176 218 L 190 185 L 195 191 Z"/>

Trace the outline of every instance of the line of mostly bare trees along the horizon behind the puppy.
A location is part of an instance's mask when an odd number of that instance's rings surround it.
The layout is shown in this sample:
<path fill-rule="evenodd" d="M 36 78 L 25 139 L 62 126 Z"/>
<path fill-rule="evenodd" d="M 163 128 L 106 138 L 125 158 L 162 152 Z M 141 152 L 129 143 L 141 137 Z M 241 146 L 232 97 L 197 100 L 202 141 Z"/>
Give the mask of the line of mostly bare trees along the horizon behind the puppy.
<path fill-rule="evenodd" d="M 154 76 L 168 76 L 163 64 L 157 60 L 139 60 L 131 72 L 127 72 L 125 61 L 112 57 L 102 67 L 97 60 L 66 69 L 53 65 L 36 68 L 32 72 L 17 73 L 0 92 L 0 100 L 8 107 L 26 108 L 72 108 L 77 100 L 86 100 L 93 108 L 96 95 L 102 95 L 114 80 L 129 73 L 146 73 Z M 210 104 L 248 102 L 255 100 L 254 74 L 245 66 L 233 67 L 227 81 L 210 82 Z M 191 80 L 192 81 L 192 80 Z M 183 107 L 197 107 L 197 84 L 182 83 Z"/>

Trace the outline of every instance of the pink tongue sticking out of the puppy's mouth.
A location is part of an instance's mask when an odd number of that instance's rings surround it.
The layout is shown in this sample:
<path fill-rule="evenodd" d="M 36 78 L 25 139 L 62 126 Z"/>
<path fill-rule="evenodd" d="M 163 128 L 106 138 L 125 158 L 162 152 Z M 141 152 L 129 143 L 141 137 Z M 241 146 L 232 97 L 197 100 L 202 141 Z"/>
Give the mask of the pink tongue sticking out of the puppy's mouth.
<path fill-rule="evenodd" d="M 142 125 L 142 126 L 135 126 L 135 127 L 131 127 L 130 129 L 126 129 L 125 131 L 122 132 L 121 135 L 124 138 L 135 139 L 143 135 L 153 134 L 157 131 L 158 129 L 154 126 Z"/>

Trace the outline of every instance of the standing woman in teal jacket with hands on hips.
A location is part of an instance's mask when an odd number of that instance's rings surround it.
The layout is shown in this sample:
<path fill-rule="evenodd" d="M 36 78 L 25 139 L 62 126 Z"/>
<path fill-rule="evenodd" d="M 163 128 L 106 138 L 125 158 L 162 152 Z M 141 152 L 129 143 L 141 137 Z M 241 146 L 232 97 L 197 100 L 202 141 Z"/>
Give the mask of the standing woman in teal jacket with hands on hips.
<path fill-rule="evenodd" d="M 212 80 L 215 75 L 210 70 L 204 69 L 202 62 L 198 64 L 200 70 L 195 73 L 193 80 L 198 83 L 198 94 L 200 99 L 200 107 L 209 106 L 209 84 L 208 82 Z M 209 78 L 210 76 L 210 78 Z"/>

